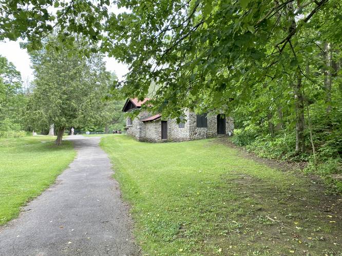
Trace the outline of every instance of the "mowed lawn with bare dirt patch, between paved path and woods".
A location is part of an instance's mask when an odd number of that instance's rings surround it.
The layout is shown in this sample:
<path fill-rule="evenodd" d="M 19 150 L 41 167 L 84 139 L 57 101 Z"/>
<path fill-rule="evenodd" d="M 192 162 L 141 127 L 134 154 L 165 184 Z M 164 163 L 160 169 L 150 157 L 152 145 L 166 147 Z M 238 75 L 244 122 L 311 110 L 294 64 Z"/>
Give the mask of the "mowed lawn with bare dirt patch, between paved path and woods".
<path fill-rule="evenodd" d="M 102 138 L 147 255 L 341 255 L 340 198 L 217 139 Z"/>

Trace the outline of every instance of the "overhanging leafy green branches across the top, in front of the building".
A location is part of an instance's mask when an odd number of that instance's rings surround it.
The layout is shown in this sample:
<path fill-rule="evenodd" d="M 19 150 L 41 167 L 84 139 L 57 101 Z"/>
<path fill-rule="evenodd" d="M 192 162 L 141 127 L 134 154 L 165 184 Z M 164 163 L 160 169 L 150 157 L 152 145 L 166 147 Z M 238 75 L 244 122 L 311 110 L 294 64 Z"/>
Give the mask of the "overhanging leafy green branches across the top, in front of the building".
<path fill-rule="evenodd" d="M 154 81 L 150 106 L 170 116 L 183 107 L 228 111 L 248 101 L 257 83 L 292 82 L 317 40 L 340 44 L 342 36 L 339 0 L 113 3 L 129 11 L 109 12 L 109 0 L 2 1 L 0 34 L 28 38 L 29 48 L 53 27 L 69 47 L 82 34 L 91 45 L 86 55 L 101 51 L 130 65 L 117 84 L 124 96 L 143 98 Z"/>

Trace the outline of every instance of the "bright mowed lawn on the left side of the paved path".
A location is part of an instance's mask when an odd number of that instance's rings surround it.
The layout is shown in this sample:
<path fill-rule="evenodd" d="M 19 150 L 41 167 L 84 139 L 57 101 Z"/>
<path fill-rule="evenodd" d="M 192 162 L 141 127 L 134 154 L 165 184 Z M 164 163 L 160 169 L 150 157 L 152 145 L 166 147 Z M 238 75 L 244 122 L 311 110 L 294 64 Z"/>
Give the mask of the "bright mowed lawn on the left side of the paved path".
<path fill-rule="evenodd" d="M 54 139 L 0 140 L 0 225 L 15 218 L 21 206 L 39 196 L 74 159 L 71 142 L 56 147 Z"/>

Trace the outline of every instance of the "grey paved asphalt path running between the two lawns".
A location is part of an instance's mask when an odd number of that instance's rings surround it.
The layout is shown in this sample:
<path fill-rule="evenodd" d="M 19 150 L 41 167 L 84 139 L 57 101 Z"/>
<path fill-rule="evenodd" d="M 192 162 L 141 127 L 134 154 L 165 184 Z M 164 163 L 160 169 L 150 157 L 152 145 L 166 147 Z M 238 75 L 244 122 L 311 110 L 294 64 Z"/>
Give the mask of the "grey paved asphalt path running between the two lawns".
<path fill-rule="evenodd" d="M 0 228 L 0 255 L 139 254 L 100 138 L 73 136 L 72 141 L 77 157 L 69 168 Z"/>

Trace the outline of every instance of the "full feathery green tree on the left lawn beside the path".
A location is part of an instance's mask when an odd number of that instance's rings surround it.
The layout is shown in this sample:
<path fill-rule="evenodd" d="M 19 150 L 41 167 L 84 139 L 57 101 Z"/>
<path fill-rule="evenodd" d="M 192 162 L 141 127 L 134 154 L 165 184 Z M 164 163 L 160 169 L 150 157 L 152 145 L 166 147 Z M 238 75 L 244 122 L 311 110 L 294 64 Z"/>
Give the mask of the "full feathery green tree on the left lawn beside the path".
<path fill-rule="evenodd" d="M 50 45 L 58 42 L 50 38 Z M 58 130 L 57 144 L 64 130 L 71 126 L 105 124 L 107 103 L 102 99 L 109 88 L 110 73 L 101 54 L 90 58 L 80 56 L 75 48 L 31 52 L 34 89 L 27 106 L 33 129 L 54 124 Z"/>

